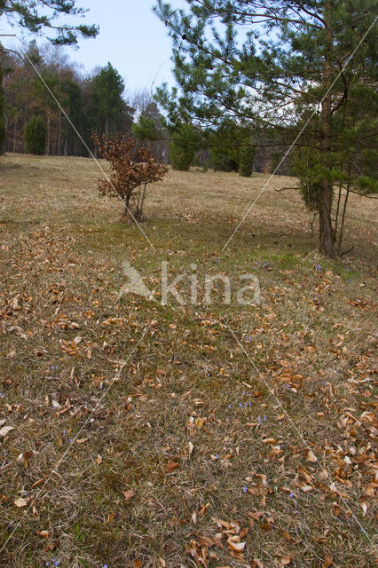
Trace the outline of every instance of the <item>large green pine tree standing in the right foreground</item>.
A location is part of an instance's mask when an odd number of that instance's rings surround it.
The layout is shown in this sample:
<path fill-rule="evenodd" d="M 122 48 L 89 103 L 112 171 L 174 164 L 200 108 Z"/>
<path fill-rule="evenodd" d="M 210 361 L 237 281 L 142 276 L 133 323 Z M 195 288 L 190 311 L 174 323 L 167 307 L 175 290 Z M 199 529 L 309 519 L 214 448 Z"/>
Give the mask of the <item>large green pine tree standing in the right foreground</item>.
<path fill-rule="evenodd" d="M 317 176 L 319 189 L 319 248 L 335 256 L 334 184 L 353 169 L 362 177 L 355 184 L 365 184 L 365 193 L 374 189 L 361 170 L 363 155 L 376 149 L 374 0 L 191 0 L 188 7 L 185 13 L 158 0 L 155 8 L 173 40 L 179 87 L 161 88 L 161 104 L 174 122 L 214 125 L 228 116 L 262 132 L 274 127 L 286 145 L 315 154 L 308 175 Z M 364 117 L 355 117 L 370 134 L 354 124 L 359 153 L 353 166 L 343 151 L 350 137 L 343 116 L 350 115 L 356 91 L 369 101 Z"/>

